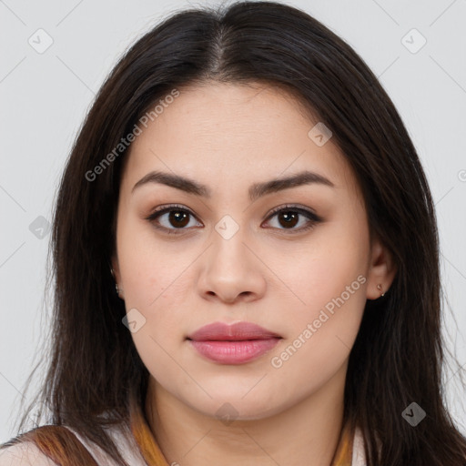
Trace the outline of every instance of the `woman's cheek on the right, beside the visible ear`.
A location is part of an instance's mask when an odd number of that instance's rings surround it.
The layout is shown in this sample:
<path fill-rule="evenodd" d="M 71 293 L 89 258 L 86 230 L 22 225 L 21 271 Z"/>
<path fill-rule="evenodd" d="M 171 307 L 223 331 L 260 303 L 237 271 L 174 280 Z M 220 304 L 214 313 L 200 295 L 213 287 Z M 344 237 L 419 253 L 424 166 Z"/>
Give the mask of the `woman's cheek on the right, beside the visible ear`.
<path fill-rule="evenodd" d="M 325 380 L 348 357 L 366 303 L 369 235 L 360 225 L 364 219 L 355 217 L 316 229 L 293 267 L 281 268 L 280 278 L 296 299 L 274 367 L 286 366 L 284 372 L 305 368 Z"/>

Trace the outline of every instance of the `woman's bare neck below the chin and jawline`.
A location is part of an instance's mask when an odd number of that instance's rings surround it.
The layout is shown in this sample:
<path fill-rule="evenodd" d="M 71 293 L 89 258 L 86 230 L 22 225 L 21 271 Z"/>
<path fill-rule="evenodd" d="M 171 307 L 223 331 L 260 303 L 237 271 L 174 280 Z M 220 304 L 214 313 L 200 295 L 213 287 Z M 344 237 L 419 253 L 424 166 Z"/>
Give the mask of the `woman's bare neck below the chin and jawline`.
<path fill-rule="evenodd" d="M 229 424 L 193 410 L 151 377 L 148 424 L 168 464 L 329 465 L 342 428 L 346 369 L 288 409 Z"/>

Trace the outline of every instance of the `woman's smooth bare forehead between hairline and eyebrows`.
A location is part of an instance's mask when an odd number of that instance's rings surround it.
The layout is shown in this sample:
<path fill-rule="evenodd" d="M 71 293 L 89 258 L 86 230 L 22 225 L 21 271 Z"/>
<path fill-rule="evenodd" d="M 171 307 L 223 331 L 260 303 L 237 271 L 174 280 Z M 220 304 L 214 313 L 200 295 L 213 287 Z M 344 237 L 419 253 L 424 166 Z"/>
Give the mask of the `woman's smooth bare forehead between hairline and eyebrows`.
<path fill-rule="evenodd" d="M 158 100 L 165 105 L 130 147 L 124 175 L 129 189 L 155 169 L 215 186 L 310 169 L 358 192 L 339 147 L 331 137 L 323 146 L 314 142 L 311 130 L 319 121 L 283 88 L 209 83 L 178 90 L 176 98 Z"/>

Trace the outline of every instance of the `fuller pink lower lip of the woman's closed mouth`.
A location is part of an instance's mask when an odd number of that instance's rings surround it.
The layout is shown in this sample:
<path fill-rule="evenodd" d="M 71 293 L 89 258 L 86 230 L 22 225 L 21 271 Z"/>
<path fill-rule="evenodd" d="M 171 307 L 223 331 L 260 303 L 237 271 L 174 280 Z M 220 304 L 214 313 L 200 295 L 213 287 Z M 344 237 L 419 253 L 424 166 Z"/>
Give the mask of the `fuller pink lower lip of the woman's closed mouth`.
<path fill-rule="evenodd" d="M 245 339 L 240 341 L 189 340 L 198 352 L 221 364 L 243 364 L 256 360 L 277 345 L 279 339 Z"/>

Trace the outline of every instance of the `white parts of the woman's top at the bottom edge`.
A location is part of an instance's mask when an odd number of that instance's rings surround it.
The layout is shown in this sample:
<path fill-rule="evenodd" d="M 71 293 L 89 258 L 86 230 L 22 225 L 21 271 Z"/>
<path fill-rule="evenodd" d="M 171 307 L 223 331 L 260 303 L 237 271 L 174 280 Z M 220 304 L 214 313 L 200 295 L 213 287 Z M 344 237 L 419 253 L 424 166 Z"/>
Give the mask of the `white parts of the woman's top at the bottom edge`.
<path fill-rule="evenodd" d="M 106 452 L 94 442 L 87 441 L 71 428 L 67 429 L 75 433 L 77 439 L 86 446 L 86 449 L 94 457 L 97 464 L 116 466 L 115 461 L 109 458 Z M 147 466 L 137 448 L 136 441 L 132 435 L 128 435 L 127 430 L 115 426 L 106 428 L 106 431 L 116 442 L 118 450 L 128 464 L 131 466 Z M 56 466 L 56 463 L 39 451 L 35 444 L 26 441 L 8 447 L 5 450 L 0 450 L 0 466 Z M 360 428 L 356 429 L 354 436 L 351 466 L 366 466 L 366 462 L 364 461 L 364 443 Z"/>

